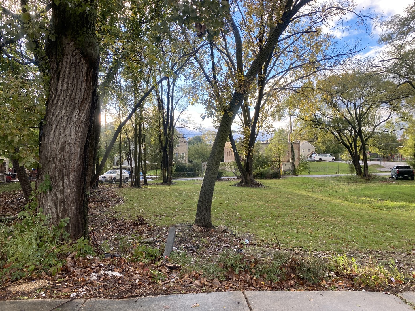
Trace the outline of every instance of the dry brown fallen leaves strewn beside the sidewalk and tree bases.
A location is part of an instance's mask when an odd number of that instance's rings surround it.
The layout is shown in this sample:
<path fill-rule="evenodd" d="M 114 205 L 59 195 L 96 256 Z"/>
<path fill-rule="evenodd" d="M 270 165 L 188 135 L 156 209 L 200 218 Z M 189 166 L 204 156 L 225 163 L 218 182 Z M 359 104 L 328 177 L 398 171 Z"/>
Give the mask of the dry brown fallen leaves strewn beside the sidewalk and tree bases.
<path fill-rule="evenodd" d="M 365 284 L 357 284 L 354 275 L 332 275 L 318 284 L 298 279 L 295 275 L 286 275 L 281 282 L 271 282 L 266 275 L 256 276 L 254 270 L 248 269 L 235 273 L 229 269 L 225 273 L 225 279 L 209 277 L 204 271 L 183 272 L 181 269 L 169 269 L 160 262 L 129 262 L 125 258 L 114 257 L 114 253 L 122 254 L 120 237 L 130 238 L 132 235 L 142 236 L 154 241 L 154 247 L 165 242 L 168 228 L 150 226 L 137 215 L 134 221 L 125 220 L 115 212 L 111 206 L 121 204 L 122 198 L 116 192 L 115 187 L 100 187 L 94 190 L 90 196 L 90 227 L 98 245 L 108 240 L 113 247 L 110 258 L 76 258 L 75 254 L 68 255 L 66 264 L 59 275 L 51 277 L 45 273 L 40 276 L 32 276 L 32 279 L 3 284 L 0 291 L 0 299 L 13 299 L 18 296 L 30 298 L 69 298 L 69 297 L 103 297 L 103 298 L 127 298 L 157 294 L 198 293 L 233 290 L 362 290 Z M 252 235 L 235 236 L 226 228 L 213 230 L 192 228 L 191 225 L 178 225 L 175 247 L 185 250 L 194 258 L 216 260 L 217 256 L 227 249 L 237 249 L 245 252 L 249 260 L 254 262 L 254 256 L 249 255 L 256 247 L 255 237 Z M 246 240 L 249 243 L 246 243 Z M 91 241 L 93 242 L 93 241 Z M 265 245 L 270 255 L 277 251 L 278 245 Z M 288 250 L 293 251 L 293 250 Z M 298 254 L 298 250 L 294 251 Z M 322 255 L 319 253 L 315 254 Z M 356 253 L 353 254 L 355 258 Z M 361 254 L 372 256 L 374 254 Z M 378 257 L 388 258 L 385 252 L 376 253 Z M 404 262 L 404 258 L 398 258 L 395 262 Z M 112 258 L 111 258 L 112 257 Z M 389 256 L 390 257 L 390 256 Z M 395 256 L 396 257 L 396 256 Z M 415 258 L 415 256 L 412 256 Z M 410 257 L 411 260 L 414 258 Z M 396 259 L 396 258 L 395 258 Z M 402 259 L 402 260 L 401 260 Z M 414 274 L 415 277 L 415 274 Z M 34 282 L 43 283 L 34 283 Z M 399 288 L 400 284 L 389 284 L 388 290 Z M 18 287 L 30 284 L 31 287 Z M 16 287 L 17 286 L 17 287 Z M 410 287 L 410 286 L 408 286 Z M 378 288 L 383 290 L 383 288 Z M 194 307 L 198 304 L 195 303 Z M 164 309 L 169 309 L 164 306 Z"/>

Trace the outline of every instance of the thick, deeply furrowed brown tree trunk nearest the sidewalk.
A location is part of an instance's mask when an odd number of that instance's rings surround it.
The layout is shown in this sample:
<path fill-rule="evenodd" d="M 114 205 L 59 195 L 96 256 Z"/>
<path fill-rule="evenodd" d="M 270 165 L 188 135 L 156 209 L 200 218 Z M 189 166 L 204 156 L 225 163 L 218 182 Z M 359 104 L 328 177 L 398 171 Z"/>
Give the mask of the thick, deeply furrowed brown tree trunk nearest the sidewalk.
<path fill-rule="evenodd" d="M 41 129 L 38 184 L 49 184 L 39 193 L 39 207 L 51 223 L 69 218 L 71 238 L 88 236 L 90 138 L 94 135 L 99 48 L 95 35 L 96 2 L 84 0 L 91 10 L 68 8 L 52 1 L 50 32 L 46 42 L 50 64 L 49 101 Z"/>

